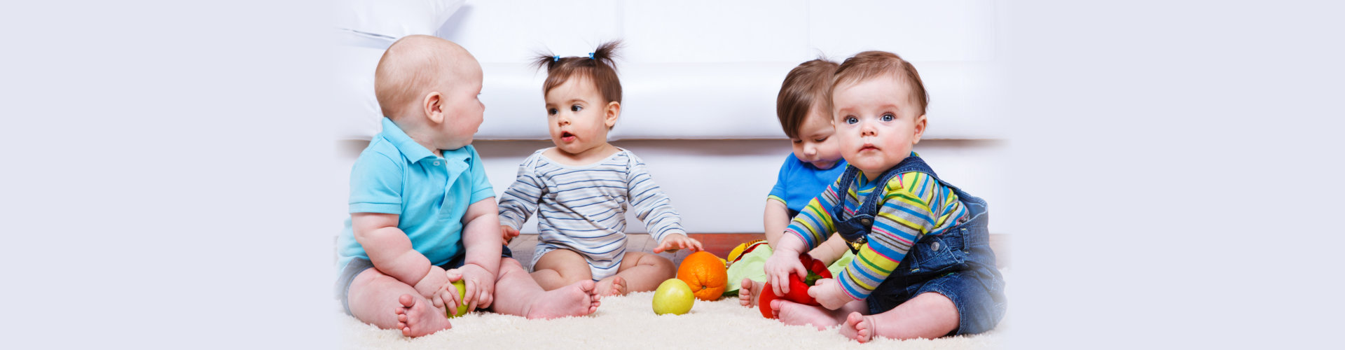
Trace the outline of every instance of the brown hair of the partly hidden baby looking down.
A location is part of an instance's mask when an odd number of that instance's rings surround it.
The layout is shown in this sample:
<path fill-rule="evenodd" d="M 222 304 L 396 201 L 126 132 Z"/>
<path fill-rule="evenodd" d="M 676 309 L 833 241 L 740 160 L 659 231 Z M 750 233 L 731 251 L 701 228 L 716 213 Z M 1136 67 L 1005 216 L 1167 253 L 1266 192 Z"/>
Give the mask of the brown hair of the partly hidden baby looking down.
<path fill-rule="evenodd" d="M 837 62 L 818 58 L 799 63 L 784 75 L 780 85 L 780 94 L 775 98 L 775 116 L 780 118 L 780 128 L 790 139 L 799 139 L 799 128 L 808 112 L 814 108 L 829 106 L 827 97 L 831 96 L 831 77 L 837 70 Z M 827 114 L 830 109 L 823 108 Z"/>

